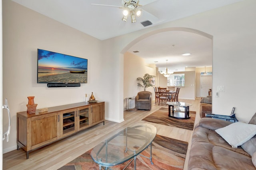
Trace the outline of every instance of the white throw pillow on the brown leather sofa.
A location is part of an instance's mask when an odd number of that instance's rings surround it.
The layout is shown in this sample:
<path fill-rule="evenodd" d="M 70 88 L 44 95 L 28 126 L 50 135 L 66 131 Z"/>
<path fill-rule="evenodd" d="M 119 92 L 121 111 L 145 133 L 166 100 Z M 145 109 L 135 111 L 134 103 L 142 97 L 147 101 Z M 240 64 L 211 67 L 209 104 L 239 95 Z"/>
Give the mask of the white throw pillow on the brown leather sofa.
<path fill-rule="evenodd" d="M 244 144 L 256 134 L 256 125 L 244 122 L 235 122 L 224 128 L 216 129 L 217 132 L 232 148 Z"/>

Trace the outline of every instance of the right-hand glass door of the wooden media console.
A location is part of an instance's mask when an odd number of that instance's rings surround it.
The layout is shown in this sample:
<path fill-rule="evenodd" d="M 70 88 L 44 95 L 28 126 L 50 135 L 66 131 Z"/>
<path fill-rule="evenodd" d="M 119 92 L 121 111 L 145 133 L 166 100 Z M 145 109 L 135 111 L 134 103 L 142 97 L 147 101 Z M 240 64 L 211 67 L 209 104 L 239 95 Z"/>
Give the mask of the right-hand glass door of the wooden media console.
<path fill-rule="evenodd" d="M 78 108 L 78 130 L 89 126 L 89 107 Z"/>

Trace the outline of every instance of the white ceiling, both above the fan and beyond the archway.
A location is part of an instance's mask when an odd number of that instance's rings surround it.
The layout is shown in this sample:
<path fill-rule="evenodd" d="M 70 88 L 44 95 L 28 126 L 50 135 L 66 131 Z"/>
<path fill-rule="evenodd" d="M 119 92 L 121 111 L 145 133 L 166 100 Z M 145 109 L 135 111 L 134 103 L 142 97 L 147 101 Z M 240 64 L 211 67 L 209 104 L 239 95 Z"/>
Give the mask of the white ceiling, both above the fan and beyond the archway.
<path fill-rule="evenodd" d="M 142 16 L 137 22 L 122 21 L 122 9 L 106 4 L 122 6 L 122 0 L 13 0 L 49 18 L 62 22 L 100 40 L 106 40 L 172 20 L 219 8 L 242 0 L 140 0 Z M 150 20 L 151 26 L 140 22 Z M 212 66 L 212 41 L 188 32 L 171 31 L 158 33 L 135 44 L 128 51 L 156 64 L 165 70 L 166 59 L 172 71 L 184 71 L 188 67 Z M 190 56 L 181 56 L 190 52 Z M 155 61 L 158 61 L 155 63 Z"/>

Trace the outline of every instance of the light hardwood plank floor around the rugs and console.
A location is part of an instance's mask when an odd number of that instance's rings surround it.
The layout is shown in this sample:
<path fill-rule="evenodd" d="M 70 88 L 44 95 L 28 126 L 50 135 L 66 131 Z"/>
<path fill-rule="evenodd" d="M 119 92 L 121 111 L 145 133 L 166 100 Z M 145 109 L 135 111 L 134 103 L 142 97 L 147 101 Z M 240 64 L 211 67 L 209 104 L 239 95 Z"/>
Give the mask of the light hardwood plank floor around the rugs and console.
<path fill-rule="evenodd" d="M 179 101 L 192 104 L 192 106 L 190 106 L 190 110 L 196 111 L 196 120 L 194 124 L 196 125 L 200 120 L 200 98 L 196 98 L 196 100 L 179 99 Z M 165 104 L 160 104 L 160 106 L 158 106 L 158 104 L 153 104 L 152 110 L 150 111 L 124 111 L 124 122 L 116 123 L 106 120 L 105 125 L 103 125 L 103 123 L 98 124 L 92 128 L 69 136 L 68 138 L 64 138 L 48 146 L 30 152 L 29 159 L 26 159 L 26 153 L 24 150 L 13 150 L 3 155 L 3 170 L 57 170 L 99 144 L 104 140 L 104 138 L 110 137 L 113 132 L 119 131 L 129 124 L 144 122 L 141 121 L 143 118 L 162 107 L 167 108 L 168 106 L 165 106 Z M 184 164 L 184 170 L 187 170 L 188 155 L 193 131 L 160 124 L 154 125 L 157 128 L 157 134 L 188 142 L 188 151 Z"/>

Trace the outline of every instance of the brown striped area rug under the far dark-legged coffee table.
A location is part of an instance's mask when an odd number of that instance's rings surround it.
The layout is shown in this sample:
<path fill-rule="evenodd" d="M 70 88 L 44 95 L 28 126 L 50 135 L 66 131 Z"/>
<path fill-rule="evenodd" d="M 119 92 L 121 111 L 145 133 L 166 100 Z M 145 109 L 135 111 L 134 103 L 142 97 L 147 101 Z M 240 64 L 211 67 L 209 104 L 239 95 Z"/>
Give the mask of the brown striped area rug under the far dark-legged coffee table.
<path fill-rule="evenodd" d="M 196 118 L 196 112 L 189 111 L 190 119 L 176 119 L 168 116 L 168 108 L 160 108 L 156 112 L 150 114 L 146 118 L 142 119 L 146 122 L 152 122 L 157 124 L 163 124 L 167 126 L 174 126 L 177 128 L 184 128 L 193 130 L 194 122 Z"/>

